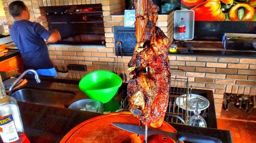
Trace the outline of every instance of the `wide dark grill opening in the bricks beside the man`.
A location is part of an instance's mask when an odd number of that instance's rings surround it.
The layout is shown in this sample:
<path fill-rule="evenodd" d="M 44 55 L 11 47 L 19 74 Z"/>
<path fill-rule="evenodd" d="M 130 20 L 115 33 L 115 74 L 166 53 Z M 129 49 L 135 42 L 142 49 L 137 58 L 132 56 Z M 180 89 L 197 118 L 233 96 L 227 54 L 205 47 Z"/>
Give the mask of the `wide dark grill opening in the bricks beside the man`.
<path fill-rule="evenodd" d="M 55 44 L 104 45 L 101 4 L 40 7 L 49 30 L 57 29 L 61 41 Z"/>

